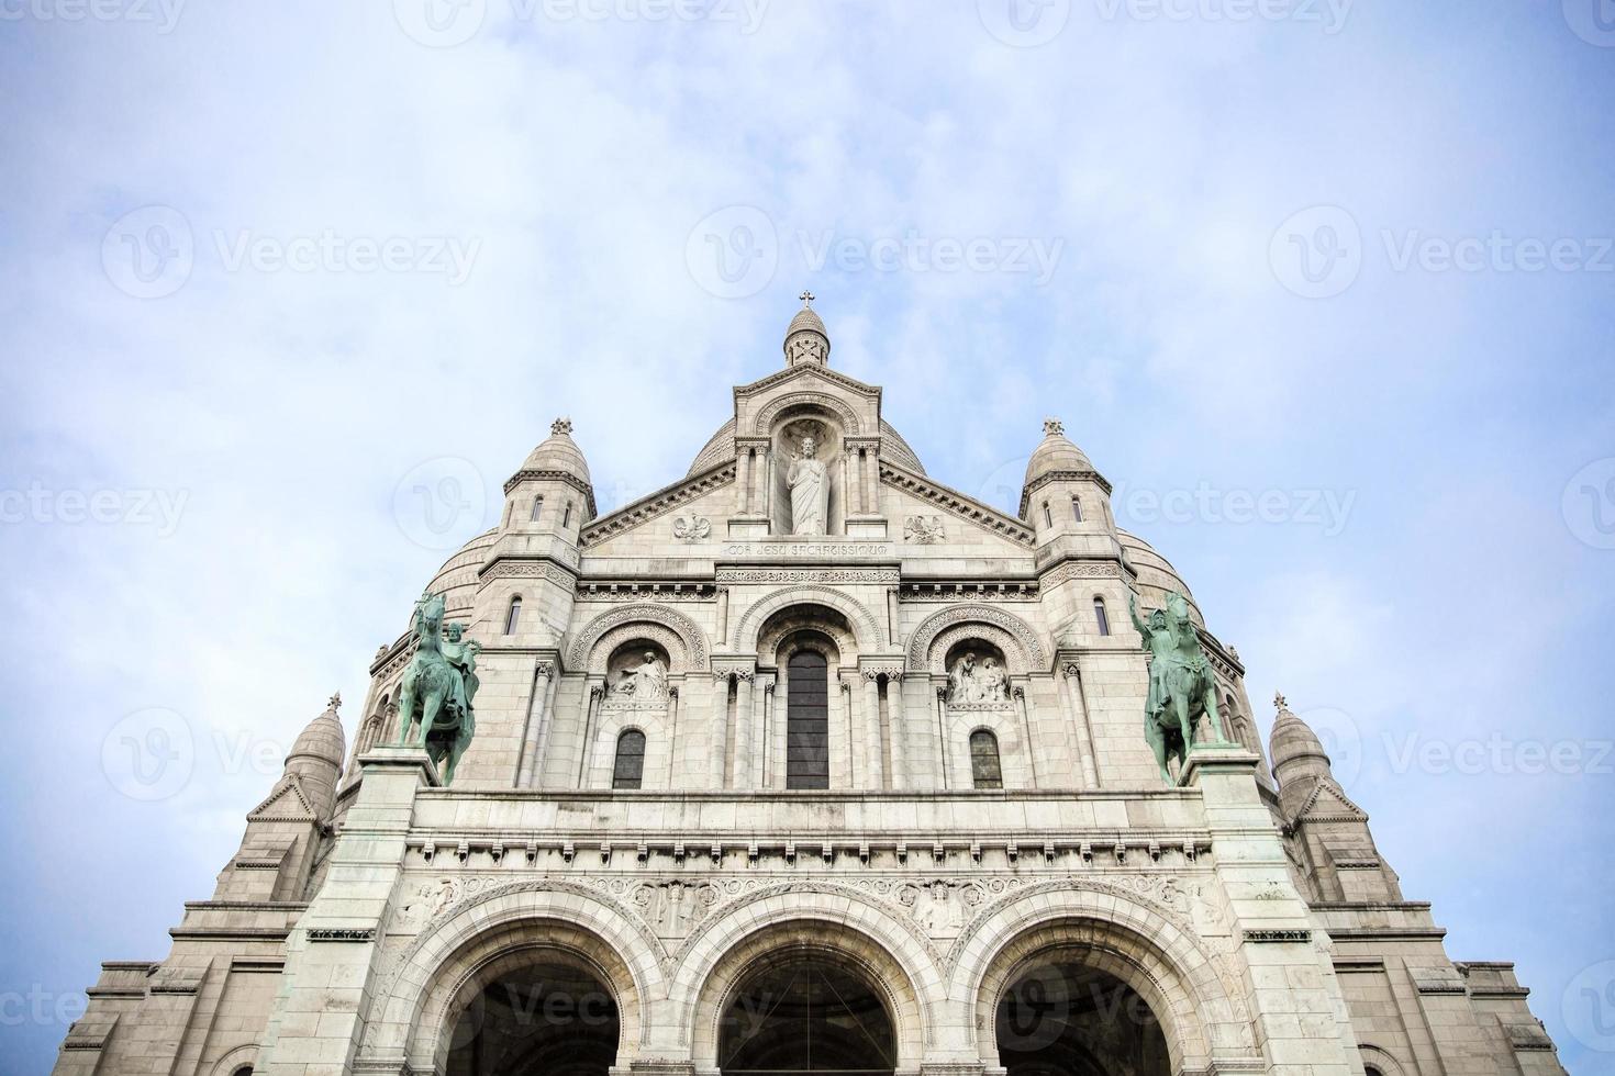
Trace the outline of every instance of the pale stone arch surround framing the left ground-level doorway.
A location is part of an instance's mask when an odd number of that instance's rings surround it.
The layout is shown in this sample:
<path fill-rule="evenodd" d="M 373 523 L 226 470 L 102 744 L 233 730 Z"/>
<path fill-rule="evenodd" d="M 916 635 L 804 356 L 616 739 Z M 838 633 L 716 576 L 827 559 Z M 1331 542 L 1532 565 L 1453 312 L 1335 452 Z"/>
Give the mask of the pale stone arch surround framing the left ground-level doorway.
<path fill-rule="evenodd" d="M 449 1032 L 475 992 L 543 952 L 565 953 L 612 994 L 619 1061 L 627 1065 L 649 1034 L 649 1002 L 662 992 L 662 945 L 609 899 L 551 881 L 489 889 L 428 923 L 376 994 L 365 1052 L 441 1071 Z"/>

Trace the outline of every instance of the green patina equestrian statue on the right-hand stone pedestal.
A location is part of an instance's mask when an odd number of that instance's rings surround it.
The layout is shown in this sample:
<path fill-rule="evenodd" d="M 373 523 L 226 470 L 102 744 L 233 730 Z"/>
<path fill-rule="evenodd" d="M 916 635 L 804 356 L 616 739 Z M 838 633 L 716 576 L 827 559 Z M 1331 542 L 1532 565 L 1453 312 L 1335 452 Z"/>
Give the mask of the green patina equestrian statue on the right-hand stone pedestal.
<path fill-rule="evenodd" d="M 1150 694 L 1143 703 L 1143 737 L 1161 766 L 1161 779 L 1171 782 L 1168 758 L 1182 769 L 1195 747 L 1195 723 L 1205 716 L 1211 726 L 1211 742 L 1226 744 L 1223 718 L 1216 708 L 1216 678 L 1200 650 L 1200 636 L 1189 618 L 1189 600 L 1177 590 L 1166 595 L 1166 608 L 1153 610 L 1150 619 L 1139 616 L 1139 595 L 1127 594 L 1132 626 L 1150 652 Z"/>

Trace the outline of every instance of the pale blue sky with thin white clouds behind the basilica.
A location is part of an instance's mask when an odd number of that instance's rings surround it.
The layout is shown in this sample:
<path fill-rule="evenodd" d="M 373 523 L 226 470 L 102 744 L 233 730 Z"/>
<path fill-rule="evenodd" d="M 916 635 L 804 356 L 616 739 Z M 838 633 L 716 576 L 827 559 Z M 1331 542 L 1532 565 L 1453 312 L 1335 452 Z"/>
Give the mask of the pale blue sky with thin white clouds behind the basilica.
<path fill-rule="evenodd" d="M 811 287 L 938 479 L 1013 508 L 1061 416 L 1615 1071 L 1615 10 L 1009 2 L 0 5 L 0 1070 L 554 416 L 602 508 L 677 479 Z"/>

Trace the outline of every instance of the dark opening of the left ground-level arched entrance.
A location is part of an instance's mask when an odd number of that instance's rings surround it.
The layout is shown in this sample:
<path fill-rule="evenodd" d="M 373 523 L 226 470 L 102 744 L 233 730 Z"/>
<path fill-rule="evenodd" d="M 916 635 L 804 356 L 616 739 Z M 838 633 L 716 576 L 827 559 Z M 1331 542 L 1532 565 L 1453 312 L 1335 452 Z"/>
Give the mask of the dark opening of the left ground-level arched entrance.
<path fill-rule="evenodd" d="M 607 1076 L 617 1002 L 578 961 L 539 958 L 488 982 L 454 1023 L 446 1076 Z"/>

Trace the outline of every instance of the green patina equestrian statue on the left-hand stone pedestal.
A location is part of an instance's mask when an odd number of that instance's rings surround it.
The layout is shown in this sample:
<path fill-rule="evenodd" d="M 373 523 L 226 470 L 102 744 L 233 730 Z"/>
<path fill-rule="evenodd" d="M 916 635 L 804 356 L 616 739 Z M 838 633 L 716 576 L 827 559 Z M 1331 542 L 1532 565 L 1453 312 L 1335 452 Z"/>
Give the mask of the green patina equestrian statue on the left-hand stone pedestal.
<path fill-rule="evenodd" d="M 465 624 L 449 624 L 443 639 L 443 597 L 430 590 L 415 603 L 415 657 L 399 687 L 399 744 L 423 747 L 443 766 L 443 782 L 454 784 L 454 768 L 472 745 L 476 718 L 476 655 L 481 645 L 465 639 Z M 420 729 L 410 737 L 410 728 Z"/>

